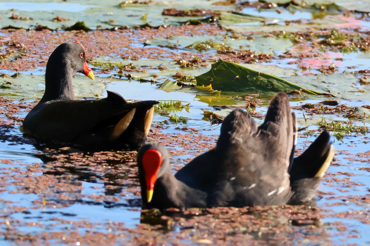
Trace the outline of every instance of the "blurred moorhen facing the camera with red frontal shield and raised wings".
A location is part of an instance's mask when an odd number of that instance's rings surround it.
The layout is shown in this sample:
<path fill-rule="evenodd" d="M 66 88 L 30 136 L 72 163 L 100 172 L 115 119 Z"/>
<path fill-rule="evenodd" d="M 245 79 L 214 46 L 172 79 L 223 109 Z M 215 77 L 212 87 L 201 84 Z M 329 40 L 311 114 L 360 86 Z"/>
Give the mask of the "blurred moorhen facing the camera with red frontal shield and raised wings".
<path fill-rule="evenodd" d="M 297 128 L 289 98 L 277 93 L 257 127 L 243 110 L 224 120 L 214 149 L 172 174 L 157 142 L 138 152 L 143 208 L 302 204 L 316 194 L 334 155 L 327 131 L 293 159 Z"/>

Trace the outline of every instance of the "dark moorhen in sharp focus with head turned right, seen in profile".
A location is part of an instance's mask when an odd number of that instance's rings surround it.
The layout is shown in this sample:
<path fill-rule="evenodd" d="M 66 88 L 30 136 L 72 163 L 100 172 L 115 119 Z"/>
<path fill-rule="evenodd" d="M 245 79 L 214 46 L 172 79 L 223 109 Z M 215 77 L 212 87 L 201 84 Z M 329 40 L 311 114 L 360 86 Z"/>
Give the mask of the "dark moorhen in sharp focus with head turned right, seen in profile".
<path fill-rule="evenodd" d="M 24 119 L 22 131 L 43 141 L 86 148 L 141 147 L 158 101 L 128 103 L 112 91 L 101 100 L 75 100 L 72 77 L 76 72 L 94 80 L 84 47 L 77 42 L 59 45 L 46 65 L 44 96 Z"/>

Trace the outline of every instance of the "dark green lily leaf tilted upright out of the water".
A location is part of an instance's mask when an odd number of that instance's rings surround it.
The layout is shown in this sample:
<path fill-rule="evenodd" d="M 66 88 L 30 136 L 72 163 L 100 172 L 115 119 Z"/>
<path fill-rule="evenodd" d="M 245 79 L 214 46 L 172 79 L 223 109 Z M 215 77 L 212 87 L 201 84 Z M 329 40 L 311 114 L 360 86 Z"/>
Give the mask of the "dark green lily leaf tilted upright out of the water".
<path fill-rule="evenodd" d="M 213 89 L 222 92 L 272 94 L 278 91 L 302 90 L 309 94 L 322 94 L 222 59 L 212 64 L 211 70 L 195 78 L 197 85 L 212 84 Z"/>

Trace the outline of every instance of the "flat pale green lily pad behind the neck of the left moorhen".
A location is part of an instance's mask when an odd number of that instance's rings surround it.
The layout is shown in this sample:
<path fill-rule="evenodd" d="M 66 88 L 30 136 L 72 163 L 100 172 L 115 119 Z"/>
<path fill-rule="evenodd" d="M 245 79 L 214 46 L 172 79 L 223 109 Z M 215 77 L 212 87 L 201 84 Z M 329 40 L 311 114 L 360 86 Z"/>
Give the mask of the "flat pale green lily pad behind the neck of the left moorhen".
<path fill-rule="evenodd" d="M 45 76 L 23 75 L 0 77 L 0 96 L 11 99 L 39 99 L 44 95 Z M 104 83 L 93 81 L 86 76 L 74 76 L 73 90 L 78 98 L 96 98 L 105 89 Z"/>

